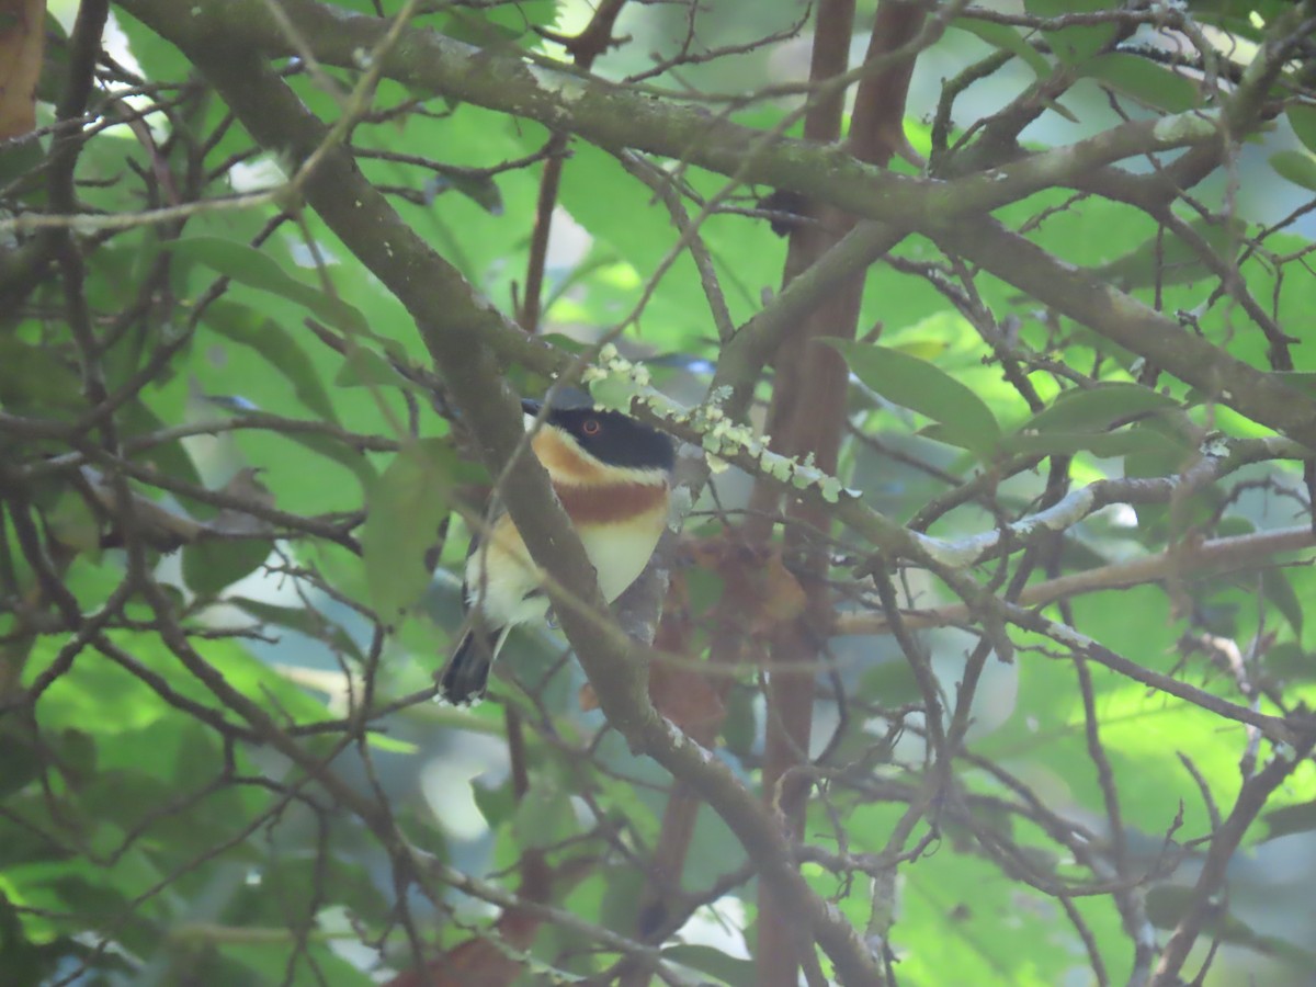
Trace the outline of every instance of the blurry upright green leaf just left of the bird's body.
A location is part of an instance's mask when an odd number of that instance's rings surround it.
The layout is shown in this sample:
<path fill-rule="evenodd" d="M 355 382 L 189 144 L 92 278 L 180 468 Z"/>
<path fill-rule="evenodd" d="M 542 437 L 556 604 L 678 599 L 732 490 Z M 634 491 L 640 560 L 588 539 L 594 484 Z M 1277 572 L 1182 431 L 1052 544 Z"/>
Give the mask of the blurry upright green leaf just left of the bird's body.
<path fill-rule="evenodd" d="M 455 453 L 445 440 L 405 446 L 366 497 L 361 536 L 370 599 L 380 617 L 393 620 L 429 586 L 425 554 L 447 513 Z"/>

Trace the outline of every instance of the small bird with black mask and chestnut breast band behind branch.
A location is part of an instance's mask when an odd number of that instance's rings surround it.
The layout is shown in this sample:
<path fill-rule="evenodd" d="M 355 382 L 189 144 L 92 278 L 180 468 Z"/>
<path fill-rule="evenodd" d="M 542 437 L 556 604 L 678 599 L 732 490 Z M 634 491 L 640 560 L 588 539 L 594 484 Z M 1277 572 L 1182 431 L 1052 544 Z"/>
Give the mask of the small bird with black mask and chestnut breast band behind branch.
<path fill-rule="evenodd" d="M 675 446 L 671 437 L 617 411 L 558 399 L 544 411 L 521 401 L 537 420 L 530 449 L 549 472 L 599 590 L 608 603 L 630 586 L 667 526 Z M 549 599 L 511 515 L 495 508 L 487 538 L 472 537 L 462 601 L 470 630 L 440 675 L 438 699 L 474 705 L 484 697 L 503 642 L 517 624 L 544 620 Z"/>

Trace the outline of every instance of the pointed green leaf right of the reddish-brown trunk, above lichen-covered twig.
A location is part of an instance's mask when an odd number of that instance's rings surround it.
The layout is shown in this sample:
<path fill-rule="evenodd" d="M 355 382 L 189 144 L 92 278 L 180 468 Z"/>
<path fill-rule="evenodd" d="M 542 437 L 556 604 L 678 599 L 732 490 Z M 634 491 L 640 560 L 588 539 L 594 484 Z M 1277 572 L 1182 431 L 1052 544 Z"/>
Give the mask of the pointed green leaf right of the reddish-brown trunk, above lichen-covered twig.
<path fill-rule="evenodd" d="M 845 357 L 865 384 L 894 404 L 941 425 L 942 441 L 991 458 L 1000 425 L 987 403 L 946 371 L 890 346 L 822 340 Z"/>

